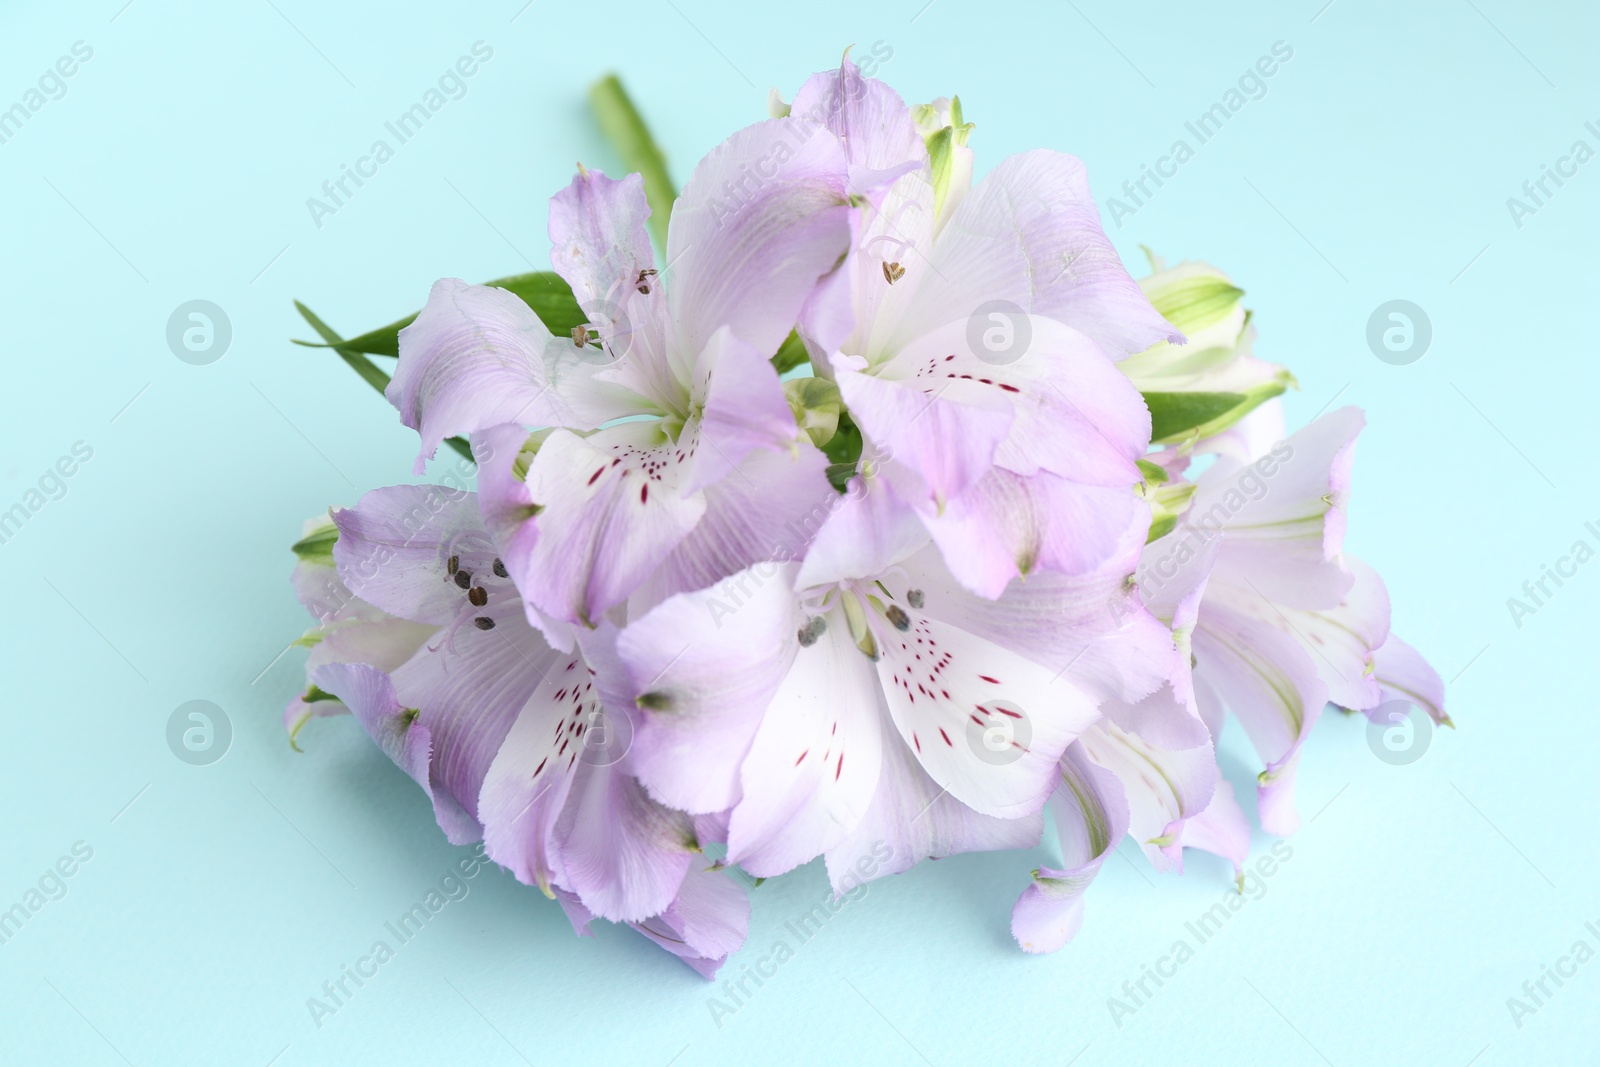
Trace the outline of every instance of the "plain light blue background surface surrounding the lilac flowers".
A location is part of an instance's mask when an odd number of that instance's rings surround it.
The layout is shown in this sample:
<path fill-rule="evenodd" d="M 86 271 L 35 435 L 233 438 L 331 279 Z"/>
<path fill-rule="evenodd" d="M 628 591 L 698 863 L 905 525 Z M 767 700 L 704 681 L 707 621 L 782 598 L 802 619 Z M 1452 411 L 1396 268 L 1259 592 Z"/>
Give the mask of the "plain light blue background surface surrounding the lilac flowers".
<path fill-rule="evenodd" d="M 74 442 L 94 454 L 6 544 L 0 907 L 75 841 L 64 899 L 0 945 L 0 1061 L 70 1064 L 1595 1062 L 1600 961 L 1514 1025 L 1506 998 L 1600 925 L 1589 563 L 1517 627 L 1506 598 L 1600 537 L 1589 163 L 1518 229 L 1506 198 L 1600 120 L 1600 16 L 1581 3 L 1323 0 L 749 5 L 493 0 L 10 3 L 0 107 L 74 42 L 93 59 L 0 144 L 0 509 Z M 277 10 L 272 5 L 277 5 Z M 914 18 L 915 16 L 915 18 Z M 477 40 L 493 59 L 318 229 L 306 198 Z M 1008 917 L 1026 856 L 874 883 L 718 1027 L 710 985 L 626 929 L 483 873 L 318 1029 L 323 981 L 464 849 L 350 720 L 290 750 L 306 625 L 286 584 L 304 517 L 406 480 L 414 437 L 309 336 L 291 298 L 357 333 L 440 275 L 547 262 L 546 198 L 613 166 L 584 91 L 622 72 L 682 182 L 845 45 L 883 42 L 909 99 L 958 91 L 979 170 L 1066 149 L 1106 197 L 1283 40 L 1294 56 L 1112 235 L 1221 264 L 1293 422 L 1370 414 L 1349 547 L 1446 678 L 1454 733 L 1387 766 L 1330 713 L 1301 765 L 1293 859 L 1118 1029 L 1107 997 L 1227 889 L 1128 843 L 1078 939 L 1030 958 Z M 859 53 L 858 53 L 859 54 Z M 218 302 L 227 355 L 190 366 L 171 310 Z M 1365 342 L 1394 298 L 1426 358 Z M 131 403 L 130 403 L 131 402 Z M 189 699 L 232 749 L 166 747 Z M 1238 739 L 1234 737 L 1234 742 Z M 1229 776 L 1248 793 L 1253 760 Z M 131 801 L 131 805 L 130 805 Z M 1246 801 L 1248 803 L 1248 801 Z M 1315 816 L 1315 817 L 1312 817 Z M 1258 835 L 1258 854 L 1269 841 Z M 824 894 L 755 889 L 754 963 Z M 1077 1056 L 1077 1059 L 1074 1059 Z M 277 1059 L 274 1059 L 277 1057 Z"/>

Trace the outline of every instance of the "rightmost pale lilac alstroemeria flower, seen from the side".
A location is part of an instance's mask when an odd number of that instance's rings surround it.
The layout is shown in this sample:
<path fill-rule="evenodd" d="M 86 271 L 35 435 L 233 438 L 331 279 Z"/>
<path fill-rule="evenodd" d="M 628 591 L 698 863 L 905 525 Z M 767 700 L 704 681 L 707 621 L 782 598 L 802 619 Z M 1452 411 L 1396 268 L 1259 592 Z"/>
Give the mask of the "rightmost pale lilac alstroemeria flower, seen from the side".
<path fill-rule="evenodd" d="M 1386 689 L 1405 691 L 1445 721 L 1438 675 L 1389 635 L 1382 579 L 1344 553 L 1363 424 L 1360 410 L 1341 408 L 1248 464 L 1219 459 L 1139 565 L 1147 601 L 1208 571 L 1192 635 L 1195 701 L 1213 737 L 1230 710 L 1266 761 L 1258 798 L 1269 833 L 1299 825 L 1299 749 L 1330 701 L 1370 710 Z"/>

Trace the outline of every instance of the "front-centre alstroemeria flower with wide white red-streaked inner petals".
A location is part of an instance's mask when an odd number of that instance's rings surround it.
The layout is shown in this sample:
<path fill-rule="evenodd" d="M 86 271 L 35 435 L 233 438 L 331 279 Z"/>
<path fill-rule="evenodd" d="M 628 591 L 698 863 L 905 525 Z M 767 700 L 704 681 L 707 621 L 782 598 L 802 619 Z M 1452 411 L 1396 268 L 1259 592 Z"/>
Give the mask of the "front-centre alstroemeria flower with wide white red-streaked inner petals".
<path fill-rule="evenodd" d="M 877 574 L 797 587 L 797 565 L 768 563 L 672 597 L 618 643 L 643 709 L 635 773 L 675 808 L 731 808 L 728 862 L 762 877 L 821 853 L 837 888 L 880 843 L 880 873 L 1027 846 L 1096 702 L 1168 672 L 1170 635 L 1128 582 L 1146 525 L 1099 569 L 998 600 L 933 547 Z"/>

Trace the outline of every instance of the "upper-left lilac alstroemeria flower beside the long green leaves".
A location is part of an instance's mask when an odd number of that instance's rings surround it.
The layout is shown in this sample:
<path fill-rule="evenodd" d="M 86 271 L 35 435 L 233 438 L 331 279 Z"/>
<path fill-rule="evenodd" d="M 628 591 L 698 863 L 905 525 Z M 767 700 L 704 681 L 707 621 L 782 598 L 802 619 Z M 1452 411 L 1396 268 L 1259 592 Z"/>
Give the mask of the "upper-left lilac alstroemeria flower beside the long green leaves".
<path fill-rule="evenodd" d="M 573 338 L 510 293 L 434 286 L 389 397 L 424 456 L 493 438 L 483 514 L 536 625 L 592 627 L 651 576 L 659 595 L 766 558 L 829 494 L 768 357 L 845 254 L 850 211 L 834 138 L 771 120 L 701 160 L 659 267 L 637 174 L 582 171 L 550 202 L 554 266 L 590 318 Z"/>

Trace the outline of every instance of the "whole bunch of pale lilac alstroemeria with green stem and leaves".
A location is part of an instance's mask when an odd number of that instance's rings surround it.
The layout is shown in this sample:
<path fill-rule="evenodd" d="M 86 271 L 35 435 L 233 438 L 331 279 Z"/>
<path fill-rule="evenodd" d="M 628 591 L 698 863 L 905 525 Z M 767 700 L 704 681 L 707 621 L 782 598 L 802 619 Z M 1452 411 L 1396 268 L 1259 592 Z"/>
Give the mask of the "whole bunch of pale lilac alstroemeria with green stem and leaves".
<path fill-rule="evenodd" d="M 291 739 L 354 712 L 451 841 L 712 976 L 728 867 L 821 856 L 843 894 L 1032 848 L 1050 806 L 1011 921 L 1048 952 L 1123 833 L 1242 870 L 1227 712 L 1275 835 L 1323 705 L 1448 721 L 1342 552 L 1362 413 L 1285 434 L 1222 272 L 1131 278 L 1070 155 L 974 186 L 955 99 L 846 59 L 773 101 L 674 195 L 603 82 L 640 173 L 550 200 L 554 274 L 443 278 L 349 341 L 302 309 L 418 474 L 462 459 L 307 523 Z"/>

